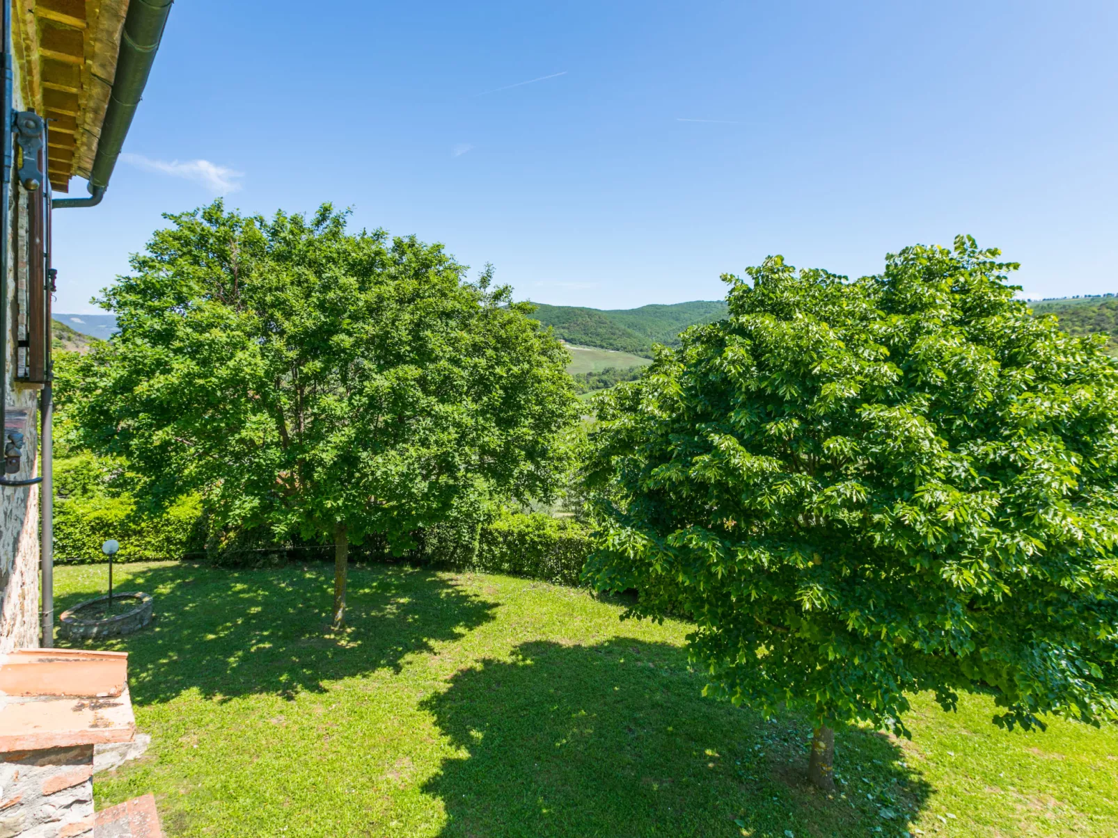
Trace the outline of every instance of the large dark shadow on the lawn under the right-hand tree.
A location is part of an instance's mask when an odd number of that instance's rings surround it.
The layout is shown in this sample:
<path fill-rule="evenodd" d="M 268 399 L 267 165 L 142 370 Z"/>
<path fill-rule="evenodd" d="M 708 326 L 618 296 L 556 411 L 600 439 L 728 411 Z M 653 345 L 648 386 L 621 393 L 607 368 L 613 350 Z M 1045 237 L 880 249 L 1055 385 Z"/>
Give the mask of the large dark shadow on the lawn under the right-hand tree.
<path fill-rule="evenodd" d="M 900 836 L 927 799 L 896 743 L 854 729 L 828 799 L 806 783 L 803 720 L 765 722 L 702 683 L 681 649 L 623 638 L 523 644 L 458 673 L 424 703 L 467 752 L 424 787 L 443 835 Z"/>

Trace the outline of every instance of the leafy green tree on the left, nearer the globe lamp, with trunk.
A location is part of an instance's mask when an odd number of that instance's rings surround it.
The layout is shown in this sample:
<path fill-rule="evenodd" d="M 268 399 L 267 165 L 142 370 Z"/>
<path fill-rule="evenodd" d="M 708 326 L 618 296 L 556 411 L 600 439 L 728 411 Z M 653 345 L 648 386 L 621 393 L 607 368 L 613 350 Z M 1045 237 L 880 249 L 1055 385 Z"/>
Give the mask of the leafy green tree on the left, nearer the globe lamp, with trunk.
<path fill-rule="evenodd" d="M 350 543 L 399 552 L 555 485 L 567 353 L 491 272 L 466 282 L 440 246 L 351 234 L 329 204 L 167 218 L 104 292 L 120 332 L 68 379 L 84 441 L 127 458 L 138 496 L 332 540 L 340 625 Z"/>

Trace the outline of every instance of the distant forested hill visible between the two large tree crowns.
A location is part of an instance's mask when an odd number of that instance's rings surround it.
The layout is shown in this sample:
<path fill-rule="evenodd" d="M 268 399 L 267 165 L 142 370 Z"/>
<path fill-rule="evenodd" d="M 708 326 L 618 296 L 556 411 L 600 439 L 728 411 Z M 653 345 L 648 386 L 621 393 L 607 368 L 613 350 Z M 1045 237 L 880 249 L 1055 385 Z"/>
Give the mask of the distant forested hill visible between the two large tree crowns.
<path fill-rule="evenodd" d="M 632 352 L 650 358 L 652 344 L 678 346 L 679 334 L 695 323 L 711 323 L 726 316 L 726 303 L 697 299 L 674 305 L 643 305 L 639 308 L 584 308 L 536 303 L 532 315 L 556 336 L 581 346 Z"/>

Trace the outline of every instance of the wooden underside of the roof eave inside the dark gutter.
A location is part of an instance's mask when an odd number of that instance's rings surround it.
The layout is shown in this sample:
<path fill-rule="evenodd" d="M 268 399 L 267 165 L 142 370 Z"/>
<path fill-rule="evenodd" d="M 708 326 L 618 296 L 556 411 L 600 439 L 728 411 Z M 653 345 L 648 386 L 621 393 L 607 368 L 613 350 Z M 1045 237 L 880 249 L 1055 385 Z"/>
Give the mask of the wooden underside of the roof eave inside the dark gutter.
<path fill-rule="evenodd" d="M 47 118 L 51 189 L 89 177 L 129 0 L 12 0 L 23 106 Z"/>

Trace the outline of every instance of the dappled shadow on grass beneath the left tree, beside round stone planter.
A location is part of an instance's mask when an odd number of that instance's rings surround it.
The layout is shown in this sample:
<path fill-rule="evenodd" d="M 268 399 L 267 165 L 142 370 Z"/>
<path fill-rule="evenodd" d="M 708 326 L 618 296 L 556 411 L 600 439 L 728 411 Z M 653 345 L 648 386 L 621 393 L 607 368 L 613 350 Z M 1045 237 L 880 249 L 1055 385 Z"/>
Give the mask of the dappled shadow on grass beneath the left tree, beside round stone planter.
<path fill-rule="evenodd" d="M 330 631 L 333 568 L 225 570 L 180 563 L 145 568 L 119 590 L 154 596 L 153 626 L 96 644 L 129 653 L 133 702 L 167 702 L 190 689 L 206 697 L 294 697 L 432 651 L 493 619 L 495 603 L 447 574 L 409 565 L 352 566 L 343 634 Z M 59 598 L 57 610 L 95 592 Z M 59 640 L 60 646 L 89 645 Z"/>

